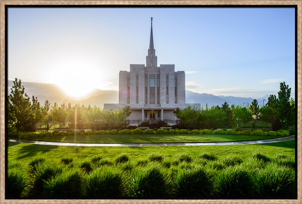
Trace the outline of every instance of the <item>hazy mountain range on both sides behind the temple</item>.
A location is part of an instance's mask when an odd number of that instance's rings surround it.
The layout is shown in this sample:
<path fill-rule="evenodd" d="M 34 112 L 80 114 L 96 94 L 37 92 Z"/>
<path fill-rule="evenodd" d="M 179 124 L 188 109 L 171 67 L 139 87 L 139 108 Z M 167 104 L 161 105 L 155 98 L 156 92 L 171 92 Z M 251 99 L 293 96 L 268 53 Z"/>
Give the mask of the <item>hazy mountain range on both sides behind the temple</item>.
<path fill-rule="evenodd" d="M 97 107 L 104 107 L 104 103 L 118 103 L 118 91 L 115 90 L 100 90 L 95 89 L 91 93 L 88 94 L 85 98 L 75 99 L 66 94 L 55 84 L 51 83 L 40 83 L 40 82 L 23 82 L 22 85 L 25 88 L 25 93 L 28 96 L 37 97 L 38 101 L 41 105 L 44 104 L 46 100 L 50 102 L 50 105 L 53 105 L 55 102 L 58 104 L 68 104 L 72 105 L 80 104 L 80 105 L 96 105 Z M 8 94 L 10 94 L 11 86 L 13 86 L 12 80 L 8 81 Z M 186 103 L 200 103 L 204 108 L 206 105 L 208 108 L 211 106 L 219 105 L 221 106 L 224 102 L 227 102 L 229 105 L 245 105 L 247 103 L 251 104 L 253 101 L 252 98 L 243 98 L 243 97 L 234 97 L 234 96 L 214 96 L 212 94 L 207 93 L 195 93 L 189 90 L 185 90 L 186 94 Z M 263 105 L 263 99 L 265 99 L 265 103 L 268 100 L 269 95 L 265 95 L 261 98 L 256 99 L 258 101 L 258 105 Z"/>

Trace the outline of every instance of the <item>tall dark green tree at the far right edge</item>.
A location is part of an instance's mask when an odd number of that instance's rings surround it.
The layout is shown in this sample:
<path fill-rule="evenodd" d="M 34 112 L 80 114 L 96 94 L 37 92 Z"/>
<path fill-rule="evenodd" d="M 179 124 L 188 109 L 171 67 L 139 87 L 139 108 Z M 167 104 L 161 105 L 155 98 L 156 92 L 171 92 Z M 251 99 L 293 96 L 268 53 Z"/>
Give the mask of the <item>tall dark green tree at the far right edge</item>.
<path fill-rule="evenodd" d="M 275 95 L 270 95 L 267 105 L 275 110 L 277 118 L 286 126 L 294 124 L 295 121 L 295 105 L 290 101 L 291 88 L 285 85 L 285 82 L 280 83 L 280 91 L 278 98 Z"/>

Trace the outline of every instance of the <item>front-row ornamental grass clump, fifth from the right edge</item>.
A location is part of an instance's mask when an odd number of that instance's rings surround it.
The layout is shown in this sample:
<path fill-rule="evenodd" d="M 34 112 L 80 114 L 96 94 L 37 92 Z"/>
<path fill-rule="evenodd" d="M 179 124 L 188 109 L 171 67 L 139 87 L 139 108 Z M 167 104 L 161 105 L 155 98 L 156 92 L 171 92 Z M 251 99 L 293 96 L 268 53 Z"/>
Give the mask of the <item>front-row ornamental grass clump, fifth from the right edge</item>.
<path fill-rule="evenodd" d="M 97 169 L 87 179 L 88 197 L 118 197 L 122 190 L 122 176 L 111 168 Z"/>

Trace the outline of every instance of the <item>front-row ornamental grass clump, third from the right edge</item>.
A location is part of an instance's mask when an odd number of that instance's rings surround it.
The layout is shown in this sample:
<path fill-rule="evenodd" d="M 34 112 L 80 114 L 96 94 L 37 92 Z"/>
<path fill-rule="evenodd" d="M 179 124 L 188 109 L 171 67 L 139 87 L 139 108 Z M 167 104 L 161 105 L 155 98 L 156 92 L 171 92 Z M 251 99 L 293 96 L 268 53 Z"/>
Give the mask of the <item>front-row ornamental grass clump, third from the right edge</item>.
<path fill-rule="evenodd" d="M 178 171 L 171 186 L 175 197 L 207 197 L 212 189 L 208 174 L 203 168 Z"/>

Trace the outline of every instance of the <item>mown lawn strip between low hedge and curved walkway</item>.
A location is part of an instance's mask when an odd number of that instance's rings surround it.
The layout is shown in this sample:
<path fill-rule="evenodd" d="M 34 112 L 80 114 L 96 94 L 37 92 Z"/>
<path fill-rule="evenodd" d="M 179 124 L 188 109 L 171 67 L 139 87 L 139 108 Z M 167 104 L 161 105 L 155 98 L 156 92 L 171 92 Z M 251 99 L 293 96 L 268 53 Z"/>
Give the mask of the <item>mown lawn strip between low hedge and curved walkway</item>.
<path fill-rule="evenodd" d="M 116 134 L 116 135 L 77 135 L 44 136 L 33 140 L 77 143 L 173 143 L 173 142 L 230 142 L 278 138 L 280 136 L 246 136 L 214 134 Z"/>

